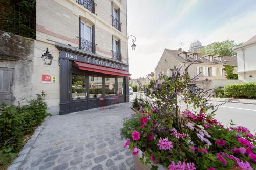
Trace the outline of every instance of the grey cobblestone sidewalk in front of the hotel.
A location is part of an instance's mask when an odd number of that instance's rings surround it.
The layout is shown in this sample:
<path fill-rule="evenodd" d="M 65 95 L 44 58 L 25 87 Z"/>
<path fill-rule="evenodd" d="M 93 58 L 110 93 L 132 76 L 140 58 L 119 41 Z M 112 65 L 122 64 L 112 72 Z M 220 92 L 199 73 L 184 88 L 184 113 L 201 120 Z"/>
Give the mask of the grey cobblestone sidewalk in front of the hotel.
<path fill-rule="evenodd" d="M 131 104 L 51 116 L 21 169 L 134 169 L 131 152 L 120 137 Z"/>

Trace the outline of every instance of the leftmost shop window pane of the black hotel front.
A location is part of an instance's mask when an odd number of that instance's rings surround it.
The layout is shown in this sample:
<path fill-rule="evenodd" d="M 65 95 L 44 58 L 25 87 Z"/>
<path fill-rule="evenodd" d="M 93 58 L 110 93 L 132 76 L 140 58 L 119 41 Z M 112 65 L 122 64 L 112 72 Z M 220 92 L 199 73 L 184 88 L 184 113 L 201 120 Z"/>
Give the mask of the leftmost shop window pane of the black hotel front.
<path fill-rule="evenodd" d="M 72 74 L 72 100 L 86 98 L 85 80 L 86 76 L 84 75 Z"/>

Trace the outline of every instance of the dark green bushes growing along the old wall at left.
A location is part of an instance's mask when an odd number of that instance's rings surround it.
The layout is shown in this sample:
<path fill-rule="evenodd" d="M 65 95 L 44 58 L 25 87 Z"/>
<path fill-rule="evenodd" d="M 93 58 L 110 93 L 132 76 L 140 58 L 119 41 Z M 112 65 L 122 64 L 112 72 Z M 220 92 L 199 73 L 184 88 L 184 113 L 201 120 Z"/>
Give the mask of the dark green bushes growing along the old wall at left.
<path fill-rule="evenodd" d="M 0 104 L 0 169 L 5 169 L 24 145 L 25 135 L 31 134 L 47 116 L 46 94 L 26 101 L 25 106 Z"/>

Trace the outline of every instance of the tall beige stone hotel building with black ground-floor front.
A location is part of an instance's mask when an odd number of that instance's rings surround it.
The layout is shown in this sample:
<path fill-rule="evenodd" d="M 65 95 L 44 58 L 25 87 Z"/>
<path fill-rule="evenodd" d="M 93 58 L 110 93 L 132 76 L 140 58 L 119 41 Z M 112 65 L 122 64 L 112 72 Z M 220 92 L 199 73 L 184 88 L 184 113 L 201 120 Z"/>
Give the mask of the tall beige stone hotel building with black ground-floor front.
<path fill-rule="evenodd" d="M 22 74 L 23 86 L 31 87 L 25 97 L 44 90 L 51 114 L 99 107 L 99 98 L 107 96 L 128 102 L 126 11 L 126 0 L 37 1 L 36 39 L 27 40 L 29 66 Z M 50 65 L 43 54 L 53 56 Z M 20 74 L 12 74 L 15 84 Z"/>

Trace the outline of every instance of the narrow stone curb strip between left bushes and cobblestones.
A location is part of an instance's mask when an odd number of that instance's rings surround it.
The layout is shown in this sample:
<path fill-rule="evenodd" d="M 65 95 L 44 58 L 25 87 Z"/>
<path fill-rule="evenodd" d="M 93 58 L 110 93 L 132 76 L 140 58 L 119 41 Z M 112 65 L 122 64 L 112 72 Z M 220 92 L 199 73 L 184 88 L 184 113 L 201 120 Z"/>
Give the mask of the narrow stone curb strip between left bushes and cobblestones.
<path fill-rule="evenodd" d="M 34 134 L 31 136 L 31 138 L 27 141 L 27 143 L 24 145 L 23 149 L 18 153 L 18 157 L 14 159 L 12 164 L 8 167 L 7 170 L 18 170 L 20 166 L 24 163 L 24 160 L 27 158 L 30 150 L 33 148 L 33 145 L 38 138 L 38 136 L 41 134 L 42 130 L 45 129 L 46 123 L 50 119 L 50 116 L 47 116 L 42 122 L 40 126 L 38 126 L 34 132 Z"/>

